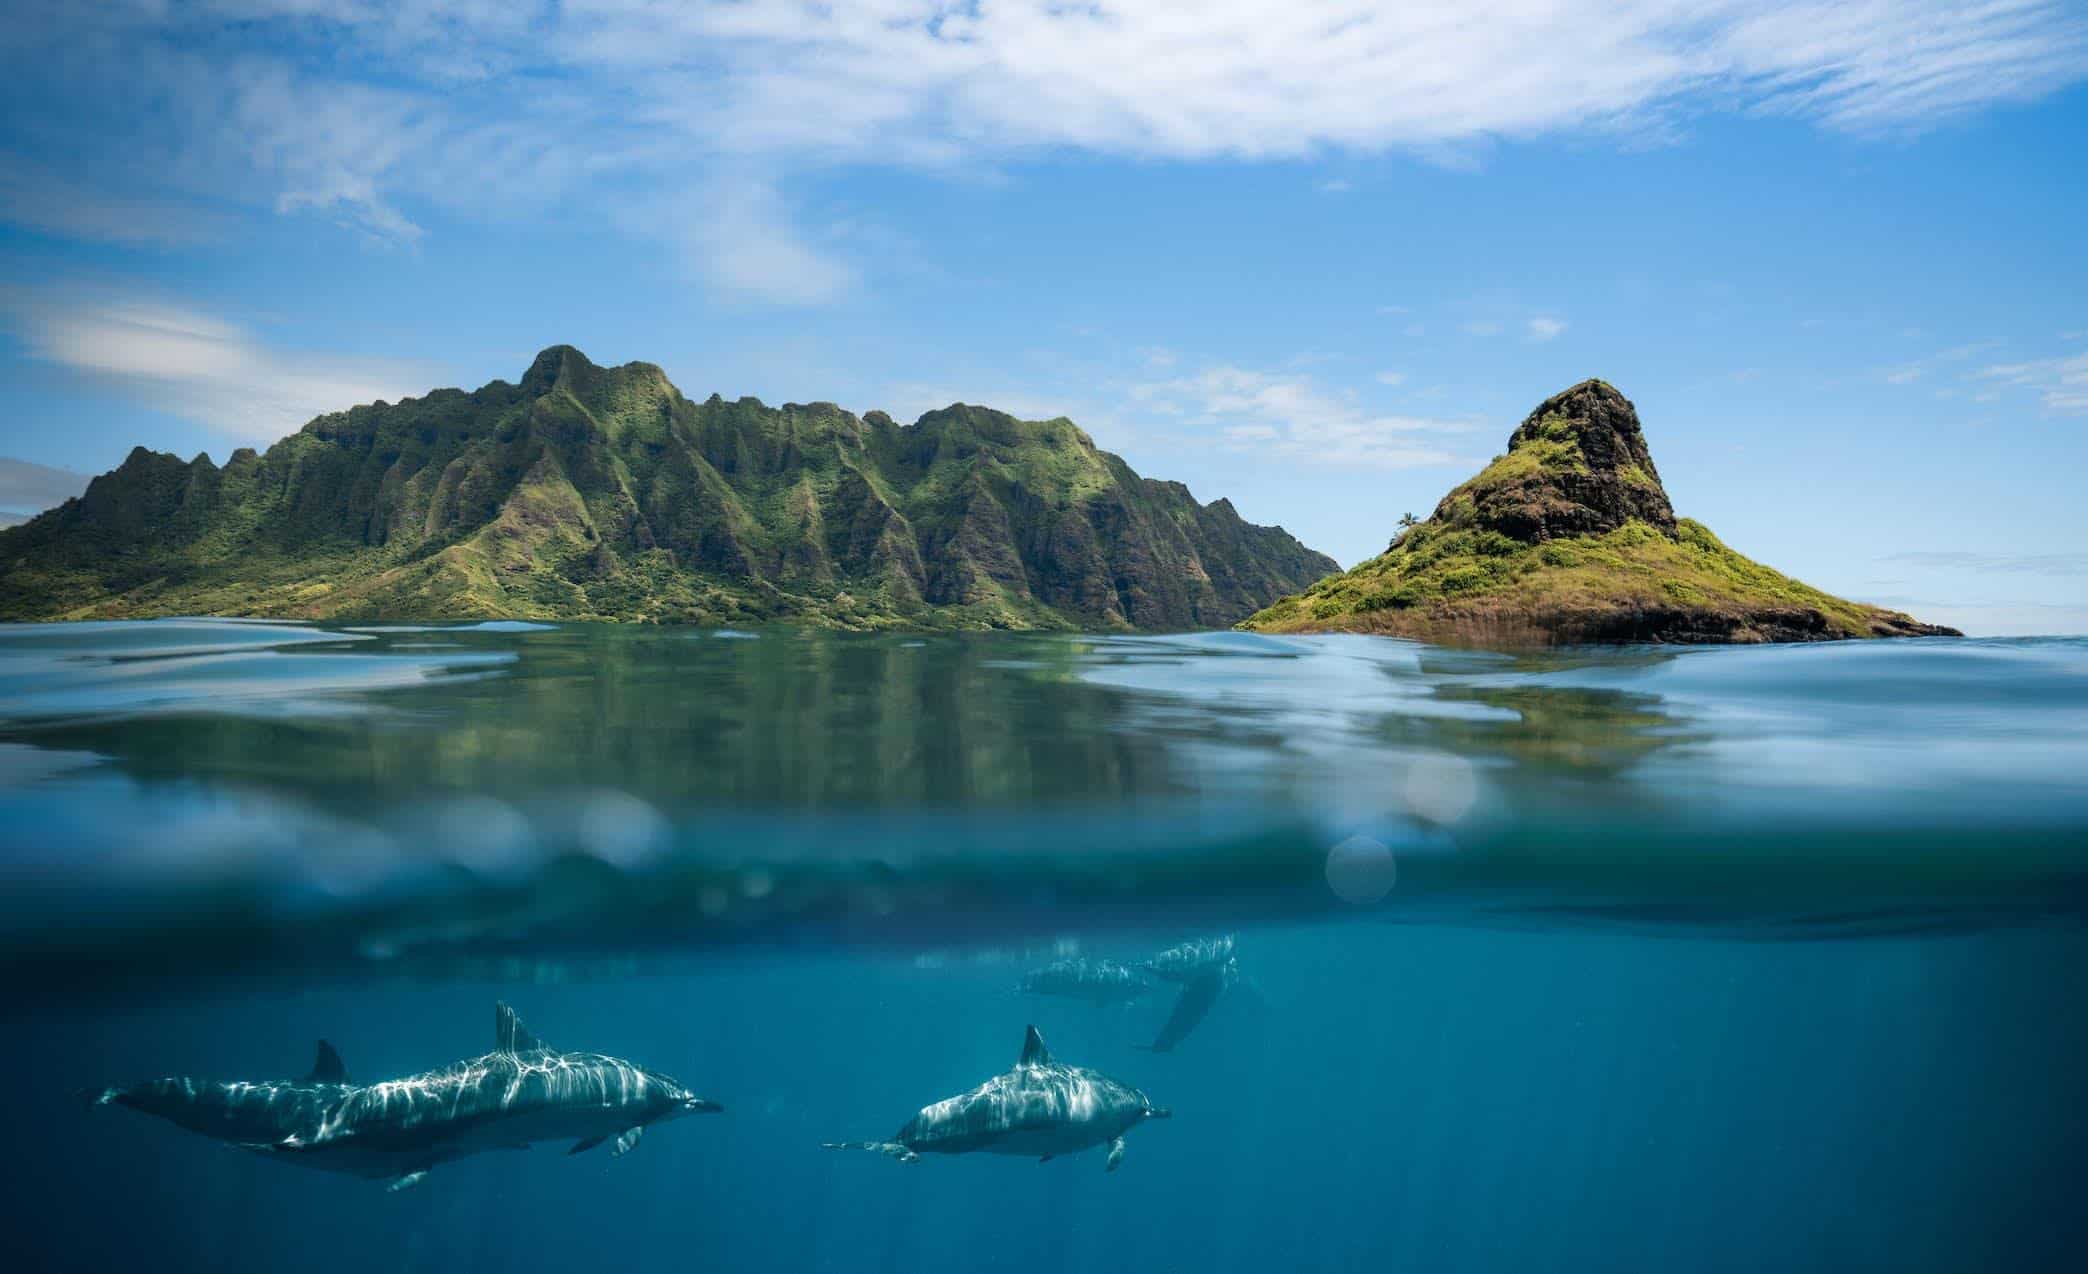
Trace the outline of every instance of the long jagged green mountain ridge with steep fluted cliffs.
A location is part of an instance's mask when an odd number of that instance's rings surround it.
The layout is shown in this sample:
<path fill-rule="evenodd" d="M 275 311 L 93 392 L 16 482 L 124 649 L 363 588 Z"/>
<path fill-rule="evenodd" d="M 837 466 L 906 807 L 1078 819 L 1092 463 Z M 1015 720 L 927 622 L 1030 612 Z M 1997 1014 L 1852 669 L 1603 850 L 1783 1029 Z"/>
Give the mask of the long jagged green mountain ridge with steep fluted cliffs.
<path fill-rule="evenodd" d="M 223 468 L 138 449 L 0 533 L 0 618 L 1230 624 L 1336 570 L 1067 420 L 685 399 L 651 363 L 322 416 Z"/>

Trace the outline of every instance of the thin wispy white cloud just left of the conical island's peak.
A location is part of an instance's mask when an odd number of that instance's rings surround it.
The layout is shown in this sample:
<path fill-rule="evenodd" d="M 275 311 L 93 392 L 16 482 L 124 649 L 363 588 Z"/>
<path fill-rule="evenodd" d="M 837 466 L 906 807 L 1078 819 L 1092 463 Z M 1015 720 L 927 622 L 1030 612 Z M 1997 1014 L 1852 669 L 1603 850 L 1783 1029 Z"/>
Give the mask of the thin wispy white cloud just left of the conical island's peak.
<path fill-rule="evenodd" d="M 1351 395 L 1330 393 L 1307 376 L 1228 363 L 1194 376 L 1134 384 L 1132 401 L 1144 411 L 1215 426 L 1234 449 L 1272 451 L 1311 464 L 1457 464 L 1460 457 L 1434 437 L 1476 428 L 1462 420 L 1372 414 Z"/>

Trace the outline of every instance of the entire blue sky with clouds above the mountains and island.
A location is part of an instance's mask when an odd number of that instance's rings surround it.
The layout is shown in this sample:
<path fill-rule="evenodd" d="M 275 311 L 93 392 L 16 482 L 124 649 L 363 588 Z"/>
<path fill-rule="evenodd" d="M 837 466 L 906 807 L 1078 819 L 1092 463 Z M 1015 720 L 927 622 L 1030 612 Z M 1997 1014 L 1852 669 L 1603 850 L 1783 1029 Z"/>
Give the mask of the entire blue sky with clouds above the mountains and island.
<path fill-rule="evenodd" d="M 0 510 L 572 343 L 1351 564 L 1604 376 L 1741 551 L 2088 631 L 2080 6 L 77 8 L 0 33 Z"/>

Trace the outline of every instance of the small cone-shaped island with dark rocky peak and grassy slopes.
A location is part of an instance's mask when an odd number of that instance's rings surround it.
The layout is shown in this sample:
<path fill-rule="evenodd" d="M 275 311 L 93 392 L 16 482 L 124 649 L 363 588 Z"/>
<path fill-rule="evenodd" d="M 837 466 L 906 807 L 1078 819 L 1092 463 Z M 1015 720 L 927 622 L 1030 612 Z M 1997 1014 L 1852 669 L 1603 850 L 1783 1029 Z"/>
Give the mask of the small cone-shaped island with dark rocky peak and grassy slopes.
<path fill-rule="evenodd" d="M 1505 455 L 1384 553 L 1240 627 L 1468 645 L 1959 635 L 1802 585 L 1677 518 L 1637 409 L 1601 380 L 1539 403 Z"/>

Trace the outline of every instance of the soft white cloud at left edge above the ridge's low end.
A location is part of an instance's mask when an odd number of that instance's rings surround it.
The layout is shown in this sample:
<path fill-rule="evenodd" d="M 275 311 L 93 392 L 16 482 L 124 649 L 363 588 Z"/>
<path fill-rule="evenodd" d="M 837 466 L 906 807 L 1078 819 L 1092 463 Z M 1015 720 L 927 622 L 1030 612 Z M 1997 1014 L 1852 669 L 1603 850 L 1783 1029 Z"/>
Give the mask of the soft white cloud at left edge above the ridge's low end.
<path fill-rule="evenodd" d="M 240 443 L 271 443 L 313 416 L 428 388 L 426 368 L 274 349 L 221 317 L 155 301 L 25 301 L 8 307 L 29 357 Z"/>

